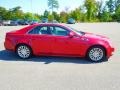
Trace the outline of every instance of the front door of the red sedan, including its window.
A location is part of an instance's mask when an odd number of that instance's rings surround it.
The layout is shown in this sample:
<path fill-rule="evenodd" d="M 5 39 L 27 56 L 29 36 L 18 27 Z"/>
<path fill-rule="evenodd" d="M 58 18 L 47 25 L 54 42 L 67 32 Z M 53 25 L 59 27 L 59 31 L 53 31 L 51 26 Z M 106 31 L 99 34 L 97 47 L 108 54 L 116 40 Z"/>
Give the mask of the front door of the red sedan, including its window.
<path fill-rule="evenodd" d="M 80 40 L 80 37 L 70 37 L 70 31 L 54 26 L 52 28 L 52 35 L 55 38 L 55 42 L 52 46 L 54 54 L 59 55 L 81 55 L 84 42 Z"/>

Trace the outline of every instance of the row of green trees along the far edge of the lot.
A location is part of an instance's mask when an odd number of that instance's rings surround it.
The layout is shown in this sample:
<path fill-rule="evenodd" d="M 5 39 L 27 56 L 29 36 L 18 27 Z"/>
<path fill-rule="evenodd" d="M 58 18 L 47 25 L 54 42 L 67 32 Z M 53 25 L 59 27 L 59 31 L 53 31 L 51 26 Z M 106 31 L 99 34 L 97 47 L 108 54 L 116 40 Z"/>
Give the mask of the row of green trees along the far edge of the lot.
<path fill-rule="evenodd" d="M 20 6 L 7 10 L 0 7 L 1 20 L 41 20 L 48 18 L 49 21 L 53 19 L 59 22 L 67 22 L 69 18 L 75 19 L 77 22 L 116 22 L 120 21 L 120 0 L 107 0 L 106 2 L 96 0 L 84 0 L 83 5 L 75 10 L 69 11 L 66 7 L 60 13 L 55 12 L 59 9 L 58 0 L 48 0 L 48 7 L 50 11 L 45 10 L 43 15 L 33 14 L 30 12 L 23 12 Z"/>

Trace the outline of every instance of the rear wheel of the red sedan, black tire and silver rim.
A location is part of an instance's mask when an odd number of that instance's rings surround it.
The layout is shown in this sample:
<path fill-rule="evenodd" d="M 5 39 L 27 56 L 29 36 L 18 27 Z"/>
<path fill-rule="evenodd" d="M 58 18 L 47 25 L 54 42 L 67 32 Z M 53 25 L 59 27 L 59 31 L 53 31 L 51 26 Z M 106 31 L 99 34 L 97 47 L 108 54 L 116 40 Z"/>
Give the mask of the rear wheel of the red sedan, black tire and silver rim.
<path fill-rule="evenodd" d="M 21 59 L 28 59 L 32 56 L 32 49 L 25 44 L 20 44 L 16 47 L 16 54 Z"/>

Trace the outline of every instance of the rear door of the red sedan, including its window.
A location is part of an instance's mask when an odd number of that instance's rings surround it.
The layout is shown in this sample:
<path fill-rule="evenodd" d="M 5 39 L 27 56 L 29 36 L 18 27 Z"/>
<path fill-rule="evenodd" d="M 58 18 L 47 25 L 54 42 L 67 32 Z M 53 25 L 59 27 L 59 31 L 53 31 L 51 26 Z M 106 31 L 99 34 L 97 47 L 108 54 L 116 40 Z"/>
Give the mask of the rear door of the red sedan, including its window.
<path fill-rule="evenodd" d="M 35 53 L 51 53 L 52 42 L 54 41 L 48 26 L 37 26 L 29 32 L 31 35 L 31 45 Z"/>

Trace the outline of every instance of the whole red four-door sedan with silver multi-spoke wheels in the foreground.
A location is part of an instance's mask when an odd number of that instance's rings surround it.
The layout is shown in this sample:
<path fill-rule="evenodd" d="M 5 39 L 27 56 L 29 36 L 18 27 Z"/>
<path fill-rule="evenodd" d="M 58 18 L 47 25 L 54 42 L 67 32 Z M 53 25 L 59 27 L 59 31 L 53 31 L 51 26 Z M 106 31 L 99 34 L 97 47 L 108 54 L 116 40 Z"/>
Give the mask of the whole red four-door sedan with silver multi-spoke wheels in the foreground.
<path fill-rule="evenodd" d="M 98 62 L 107 60 L 114 51 L 107 37 L 60 24 L 35 24 L 8 32 L 4 46 L 22 59 L 47 55 L 87 57 Z"/>

